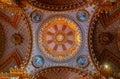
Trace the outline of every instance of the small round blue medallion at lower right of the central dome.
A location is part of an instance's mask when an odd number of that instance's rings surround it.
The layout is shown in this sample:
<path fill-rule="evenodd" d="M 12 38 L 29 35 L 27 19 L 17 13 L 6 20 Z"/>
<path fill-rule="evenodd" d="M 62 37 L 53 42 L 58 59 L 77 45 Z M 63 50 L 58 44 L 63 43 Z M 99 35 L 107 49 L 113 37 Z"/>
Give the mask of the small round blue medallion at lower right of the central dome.
<path fill-rule="evenodd" d="M 77 64 L 80 66 L 80 67 L 86 67 L 89 63 L 89 60 L 88 60 L 88 57 L 85 56 L 85 55 L 81 55 L 78 57 L 77 59 Z"/>

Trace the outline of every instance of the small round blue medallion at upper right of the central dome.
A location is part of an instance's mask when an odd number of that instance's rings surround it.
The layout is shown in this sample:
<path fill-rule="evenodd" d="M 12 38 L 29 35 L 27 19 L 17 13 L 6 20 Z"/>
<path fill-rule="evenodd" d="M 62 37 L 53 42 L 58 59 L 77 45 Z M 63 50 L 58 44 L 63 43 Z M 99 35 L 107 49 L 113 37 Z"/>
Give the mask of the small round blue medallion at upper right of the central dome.
<path fill-rule="evenodd" d="M 77 13 L 77 18 L 79 21 L 86 21 L 89 18 L 89 13 L 86 10 L 80 10 Z"/>

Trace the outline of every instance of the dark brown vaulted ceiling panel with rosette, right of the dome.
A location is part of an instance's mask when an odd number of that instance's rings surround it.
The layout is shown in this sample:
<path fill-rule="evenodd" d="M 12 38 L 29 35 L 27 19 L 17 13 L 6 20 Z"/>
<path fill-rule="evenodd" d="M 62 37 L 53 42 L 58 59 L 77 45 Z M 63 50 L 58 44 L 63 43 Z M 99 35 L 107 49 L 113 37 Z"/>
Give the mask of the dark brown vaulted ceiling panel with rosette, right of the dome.
<path fill-rule="evenodd" d="M 102 68 L 107 64 L 117 72 L 120 70 L 120 10 L 103 11 L 99 15 L 89 28 L 90 53 L 95 54 Z"/>

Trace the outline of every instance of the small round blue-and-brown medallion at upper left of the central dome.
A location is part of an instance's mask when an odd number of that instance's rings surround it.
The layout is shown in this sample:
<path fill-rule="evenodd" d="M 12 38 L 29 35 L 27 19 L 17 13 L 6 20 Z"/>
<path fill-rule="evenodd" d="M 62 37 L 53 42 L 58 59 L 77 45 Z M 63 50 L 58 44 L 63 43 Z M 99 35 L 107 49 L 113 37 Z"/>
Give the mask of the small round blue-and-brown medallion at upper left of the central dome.
<path fill-rule="evenodd" d="M 42 19 L 42 13 L 39 11 L 33 11 L 31 13 L 31 20 L 34 23 L 38 23 Z"/>

